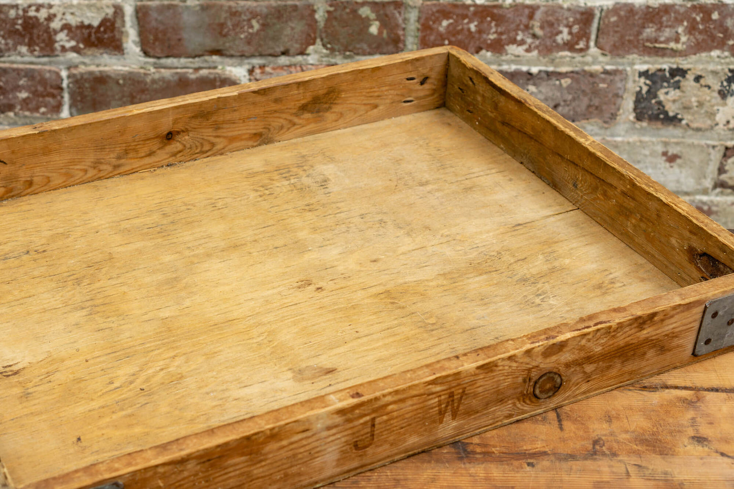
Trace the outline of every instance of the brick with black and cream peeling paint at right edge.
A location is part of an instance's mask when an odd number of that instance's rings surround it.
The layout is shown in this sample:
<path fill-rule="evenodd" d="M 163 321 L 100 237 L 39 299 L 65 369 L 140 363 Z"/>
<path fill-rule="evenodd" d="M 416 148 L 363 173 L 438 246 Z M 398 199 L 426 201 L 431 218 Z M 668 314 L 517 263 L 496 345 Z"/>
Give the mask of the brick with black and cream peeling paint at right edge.
<path fill-rule="evenodd" d="M 694 129 L 734 128 L 734 68 L 640 70 L 634 112 L 639 121 Z"/>

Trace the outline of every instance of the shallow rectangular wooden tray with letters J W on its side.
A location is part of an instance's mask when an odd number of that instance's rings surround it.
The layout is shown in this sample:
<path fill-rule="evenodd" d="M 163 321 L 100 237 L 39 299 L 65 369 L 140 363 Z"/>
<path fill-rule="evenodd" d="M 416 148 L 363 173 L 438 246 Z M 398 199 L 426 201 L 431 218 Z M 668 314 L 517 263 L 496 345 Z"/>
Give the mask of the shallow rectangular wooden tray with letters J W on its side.
<path fill-rule="evenodd" d="M 319 485 L 706 358 L 734 292 L 727 231 L 456 48 L 0 160 L 10 488 Z"/>

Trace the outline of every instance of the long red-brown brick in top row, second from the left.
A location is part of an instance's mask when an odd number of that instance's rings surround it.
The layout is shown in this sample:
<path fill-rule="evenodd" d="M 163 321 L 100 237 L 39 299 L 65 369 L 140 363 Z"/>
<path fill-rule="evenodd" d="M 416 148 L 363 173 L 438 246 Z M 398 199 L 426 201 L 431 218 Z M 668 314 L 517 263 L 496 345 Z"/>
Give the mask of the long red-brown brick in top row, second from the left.
<path fill-rule="evenodd" d="M 137 4 L 140 44 L 155 57 L 304 54 L 316 43 L 313 5 L 290 1 Z"/>

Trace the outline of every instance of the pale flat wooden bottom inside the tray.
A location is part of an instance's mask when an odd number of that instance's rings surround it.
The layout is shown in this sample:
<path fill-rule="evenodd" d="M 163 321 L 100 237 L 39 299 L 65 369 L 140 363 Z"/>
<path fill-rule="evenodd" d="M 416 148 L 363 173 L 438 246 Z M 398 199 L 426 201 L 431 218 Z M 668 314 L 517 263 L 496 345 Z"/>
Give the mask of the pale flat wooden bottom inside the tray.
<path fill-rule="evenodd" d="M 0 214 L 19 487 L 677 289 L 446 109 Z"/>

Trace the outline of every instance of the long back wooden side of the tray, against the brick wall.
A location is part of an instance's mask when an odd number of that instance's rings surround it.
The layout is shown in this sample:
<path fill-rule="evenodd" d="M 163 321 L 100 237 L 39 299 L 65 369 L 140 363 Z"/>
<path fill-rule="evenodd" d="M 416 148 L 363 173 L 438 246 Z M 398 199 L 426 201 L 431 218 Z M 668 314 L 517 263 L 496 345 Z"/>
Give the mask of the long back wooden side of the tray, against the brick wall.
<path fill-rule="evenodd" d="M 446 48 L 0 132 L 0 200 L 443 106 Z"/>

